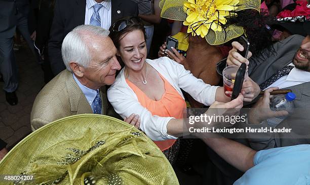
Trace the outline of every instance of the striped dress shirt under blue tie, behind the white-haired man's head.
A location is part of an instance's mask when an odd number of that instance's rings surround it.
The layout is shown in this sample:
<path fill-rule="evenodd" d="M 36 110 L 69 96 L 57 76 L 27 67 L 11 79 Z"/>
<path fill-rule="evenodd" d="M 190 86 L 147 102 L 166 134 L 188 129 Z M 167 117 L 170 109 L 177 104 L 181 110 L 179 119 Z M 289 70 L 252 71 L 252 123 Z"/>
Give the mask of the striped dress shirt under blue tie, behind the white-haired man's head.
<path fill-rule="evenodd" d="M 90 19 L 95 12 L 93 8 L 95 4 L 103 6 L 98 13 L 100 15 L 101 27 L 108 30 L 111 26 L 111 0 L 104 0 L 101 3 L 97 3 L 95 0 L 86 0 L 85 24 L 90 24 Z"/>

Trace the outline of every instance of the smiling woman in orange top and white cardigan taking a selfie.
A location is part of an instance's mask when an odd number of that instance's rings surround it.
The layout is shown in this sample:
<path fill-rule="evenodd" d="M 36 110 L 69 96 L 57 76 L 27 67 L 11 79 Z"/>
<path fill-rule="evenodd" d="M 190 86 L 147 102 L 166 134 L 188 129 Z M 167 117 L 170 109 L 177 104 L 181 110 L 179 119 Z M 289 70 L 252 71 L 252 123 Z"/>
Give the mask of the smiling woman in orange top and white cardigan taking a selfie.
<path fill-rule="evenodd" d="M 215 100 L 228 102 L 230 98 L 223 87 L 205 84 L 168 57 L 146 59 L 145 32 L 137 18 L 115 22 L 109 36 L 125 67 L 108 89 L 108 99 L 123 118 L 132 113 L 138 115 L 140 129 L 173 164 L 179 147 L 176 139 L 182 136 L 182 118 L 186 113 L 181 88 L 205 105 Z M 236 100 L 237 106 L 241 99 Z"/>

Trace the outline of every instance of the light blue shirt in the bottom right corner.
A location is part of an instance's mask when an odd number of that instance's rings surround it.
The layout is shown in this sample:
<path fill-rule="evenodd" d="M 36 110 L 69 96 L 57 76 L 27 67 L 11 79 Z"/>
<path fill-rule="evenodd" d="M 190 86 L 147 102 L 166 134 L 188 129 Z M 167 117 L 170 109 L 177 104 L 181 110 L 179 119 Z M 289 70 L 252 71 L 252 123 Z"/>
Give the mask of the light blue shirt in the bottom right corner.
<path fill-rule="evenodd" d="M 234 185 L 309 185 L 310 144 L 262 150 Z"/>

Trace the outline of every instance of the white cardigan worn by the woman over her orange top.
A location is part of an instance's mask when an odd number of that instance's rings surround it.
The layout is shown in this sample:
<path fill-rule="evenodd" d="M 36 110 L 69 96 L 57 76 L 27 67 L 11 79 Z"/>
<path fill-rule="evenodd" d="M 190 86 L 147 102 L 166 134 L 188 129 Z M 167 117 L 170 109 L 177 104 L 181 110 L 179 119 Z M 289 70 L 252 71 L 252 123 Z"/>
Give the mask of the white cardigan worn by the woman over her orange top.
<path fill-rule="evenodd" d="M 183 65 L 168 57 L 161 57 L 156 60 L 146 59 L 146 62 L 156 69 L 183 99 L 181 89 L 205 105 L 211 105 L 215 101 L 215 92 L 218 86 L 205 84 L 201 79 L 194 77 L 190 71 L 185 70 Z M 172 117 L 152 116 L 139 103 L 136 94 L 126 83 L 124 69 L 125 67 L 107 91 L 108 100 L 115 112 L 122 118 L 128 118 L 133 113 L 139 115 L 141 119 L 140 129 L 152 140 L 175 139 L 176 137 L 167 134 L 167 124 Z"/>

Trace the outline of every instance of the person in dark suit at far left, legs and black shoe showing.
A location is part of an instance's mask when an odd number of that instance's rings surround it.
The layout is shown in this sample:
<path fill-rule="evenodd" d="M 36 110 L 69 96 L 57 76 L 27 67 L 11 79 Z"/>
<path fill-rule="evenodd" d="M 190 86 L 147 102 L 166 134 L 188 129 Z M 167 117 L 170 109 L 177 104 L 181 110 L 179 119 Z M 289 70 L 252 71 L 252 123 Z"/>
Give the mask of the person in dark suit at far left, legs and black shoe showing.
<path fill-rule="evenodd" d="M 6 100 L 16 105 L 18 98 L 18 72 L 13 51 L 13 36 L 16 28 L 23 35 L 34 54 L 33 41 L 28 29 L 28 0 L 0 0 L 0 69 L 4 80 Z"/>

